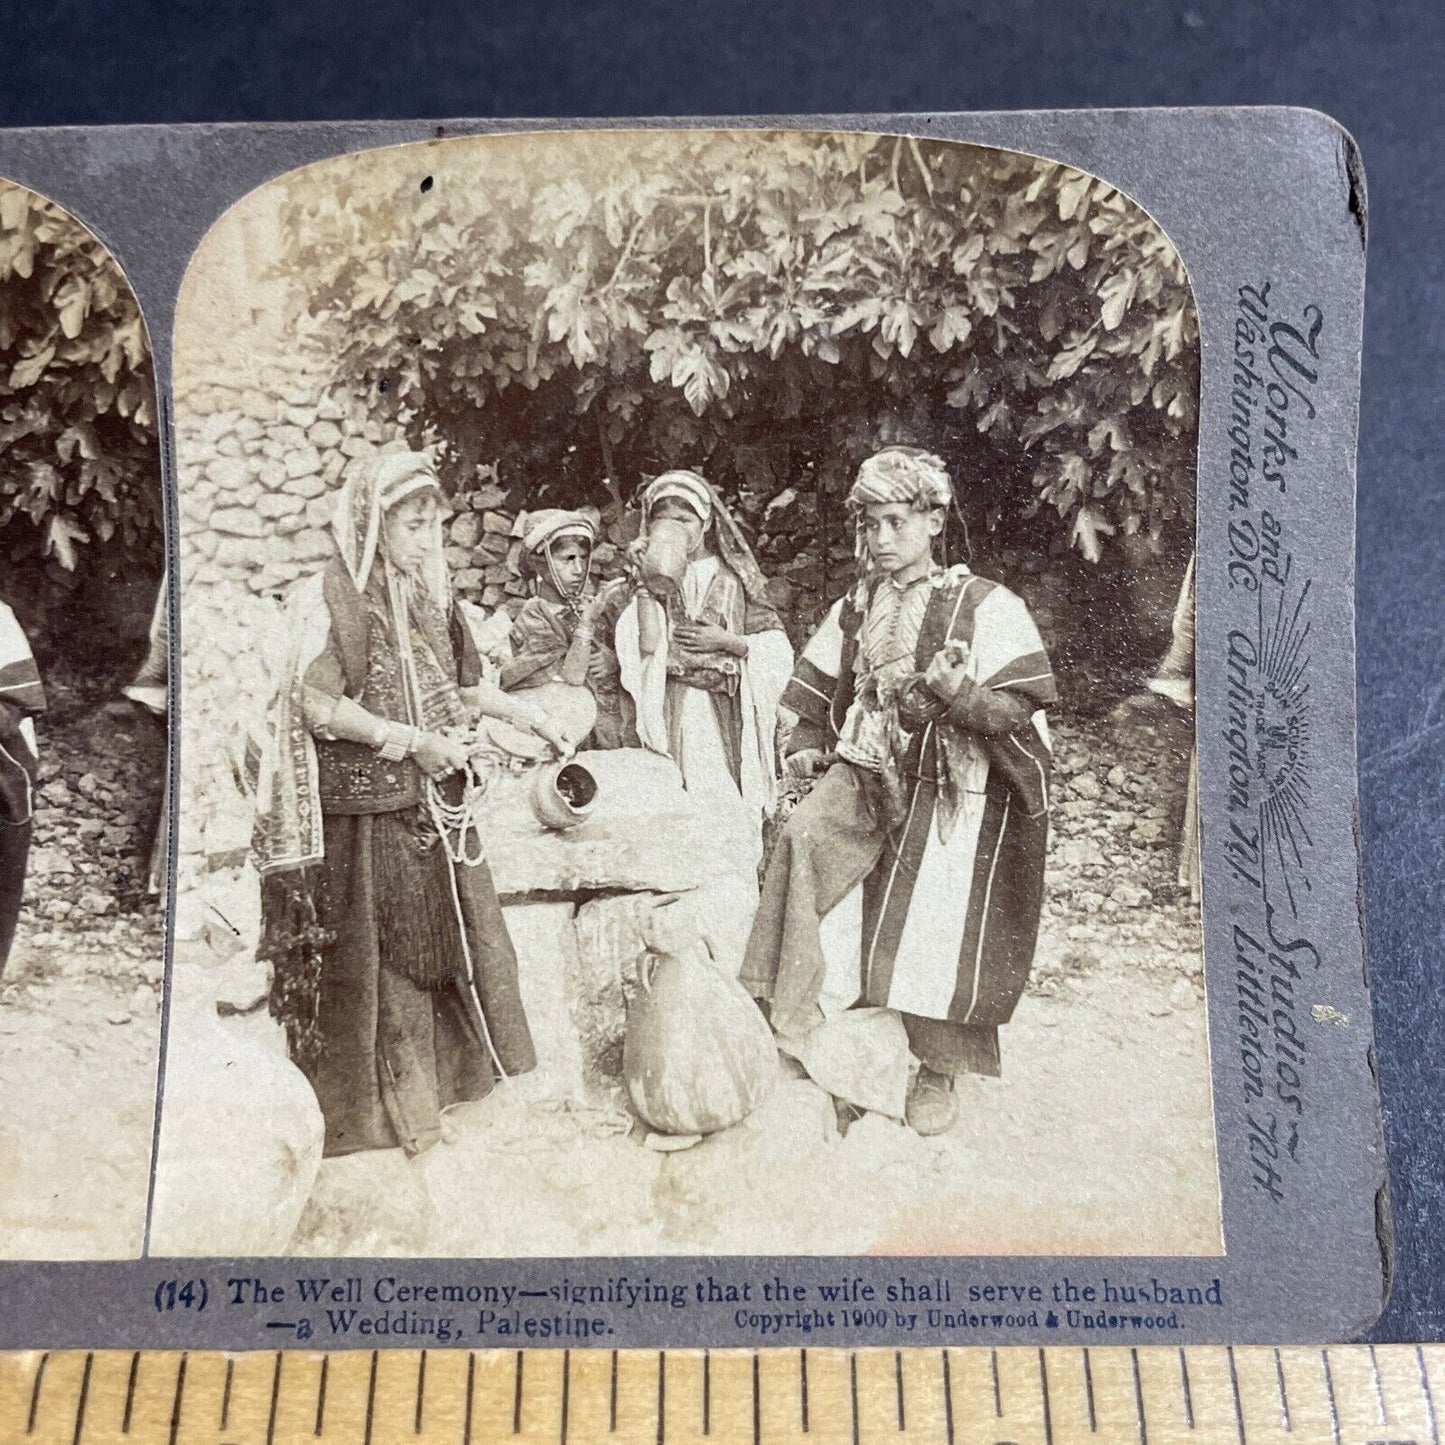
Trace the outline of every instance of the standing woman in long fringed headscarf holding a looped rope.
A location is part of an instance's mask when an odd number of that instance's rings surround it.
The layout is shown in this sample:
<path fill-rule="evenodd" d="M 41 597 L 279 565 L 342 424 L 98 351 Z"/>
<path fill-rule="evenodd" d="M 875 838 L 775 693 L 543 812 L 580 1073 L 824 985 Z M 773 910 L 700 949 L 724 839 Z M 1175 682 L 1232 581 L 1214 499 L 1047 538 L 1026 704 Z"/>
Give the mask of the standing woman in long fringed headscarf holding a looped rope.
<path fill-rule="evenodd" d="M 257 808 L 263 954 L 328 1155 L 419 1153 L 449 1105 L 536 1064 L 491 871 L 471 861 L 475 832 L 445 822 L 467 764 L 457 738 L 478 717 L 565 738 L 481 681 L 439 504 L 423 454 L 354 464 L 338 556 L 289 607 Z"/>

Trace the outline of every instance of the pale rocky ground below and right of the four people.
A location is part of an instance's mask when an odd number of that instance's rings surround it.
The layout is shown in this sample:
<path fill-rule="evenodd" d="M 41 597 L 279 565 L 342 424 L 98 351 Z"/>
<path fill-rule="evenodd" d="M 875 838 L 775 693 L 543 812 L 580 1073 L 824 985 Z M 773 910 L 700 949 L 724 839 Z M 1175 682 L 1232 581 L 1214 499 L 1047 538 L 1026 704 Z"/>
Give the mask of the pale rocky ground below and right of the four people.
<path fill-rule="evenodd" d="M 415 1163 L 327 1160 L 292 1250 L 1218 1253 L 1198 910 L 1175 883 L 1188 727 L 1100 717 L 1055 743 L 1035 977 L 1003 1078 L 964 1081 L 948 1136 L 871 1114 L 840 1136 L 831 1100 L 785 1071 L 741 1126 L 659 1155 L 620 1097 L 519 1081 L 455 1110 Z"/>

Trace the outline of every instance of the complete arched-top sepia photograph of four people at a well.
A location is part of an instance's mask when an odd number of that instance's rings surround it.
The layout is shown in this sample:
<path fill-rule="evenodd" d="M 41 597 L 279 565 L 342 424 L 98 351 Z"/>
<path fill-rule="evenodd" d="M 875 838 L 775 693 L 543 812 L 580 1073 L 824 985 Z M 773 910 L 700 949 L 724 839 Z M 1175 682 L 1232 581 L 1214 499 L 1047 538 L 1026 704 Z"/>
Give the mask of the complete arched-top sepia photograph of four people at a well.
<path fill-rule="evenodd" d="M 1222 1253 L 1199 332 L 1134 201 L 368 150 L 217 221 L 173 370 L 153 1253 Z"/>

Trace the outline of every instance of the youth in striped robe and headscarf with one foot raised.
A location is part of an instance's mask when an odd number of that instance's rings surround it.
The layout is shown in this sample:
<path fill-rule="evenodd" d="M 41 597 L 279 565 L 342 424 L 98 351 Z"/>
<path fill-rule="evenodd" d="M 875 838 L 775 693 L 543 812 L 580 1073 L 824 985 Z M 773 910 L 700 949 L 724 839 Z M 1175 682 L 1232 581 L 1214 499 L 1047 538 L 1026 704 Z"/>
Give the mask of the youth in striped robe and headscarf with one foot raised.
<path fill-rule="evenodd" d="M 1023 603 L 933 561 L 951 500 L 915 448 L 858 473 L 858 582 L 783 695 L 788 766 L 821 777 L 769 863 L 741 975 L 785 1042 L 854 1006 L 897 1013 L 922 1134 L 952 1126 L 955 1075 L 998 1074 L 1033 962 L 1055 699 Z"/>

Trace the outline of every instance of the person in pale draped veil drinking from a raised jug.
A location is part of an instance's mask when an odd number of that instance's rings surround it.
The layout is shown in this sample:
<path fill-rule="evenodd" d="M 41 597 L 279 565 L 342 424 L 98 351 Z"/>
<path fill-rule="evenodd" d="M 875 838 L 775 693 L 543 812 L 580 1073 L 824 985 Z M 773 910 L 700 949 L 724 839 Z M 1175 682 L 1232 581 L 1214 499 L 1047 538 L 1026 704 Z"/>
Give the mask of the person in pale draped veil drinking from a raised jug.
<path fill-rule="evenodd" d="M 656 523 L 673 523 L 686 565 L 675 592 L 659 600 L 639 588 L 617 620 L 637 733 L 678 764 L 689 793 L 738 809 L 762 857 L 763 812 L 777 780 L 777 699 L 793 650 L 747 540 L 698 473 L 655 477 L 642 513 L 642 548 Z"/>

